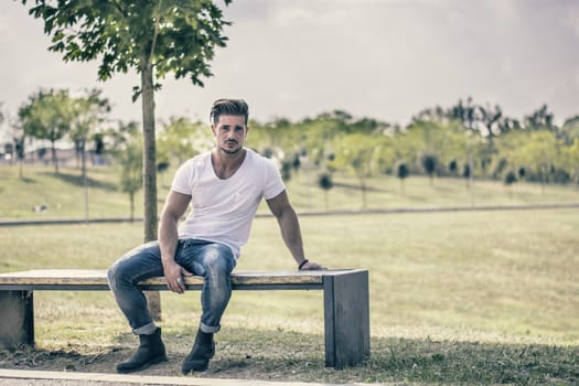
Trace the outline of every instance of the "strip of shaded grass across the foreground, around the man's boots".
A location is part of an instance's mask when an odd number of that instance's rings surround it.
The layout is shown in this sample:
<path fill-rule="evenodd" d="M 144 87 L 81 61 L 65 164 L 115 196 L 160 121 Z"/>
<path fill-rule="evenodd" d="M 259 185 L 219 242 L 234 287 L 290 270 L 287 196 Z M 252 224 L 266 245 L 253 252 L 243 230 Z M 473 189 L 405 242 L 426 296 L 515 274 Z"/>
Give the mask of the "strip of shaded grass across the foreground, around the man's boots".
<path fill-rule="evenodd" d="M 139 374 L 176 376 L 191 350 L 194 332 L 163 331 L 170 361 Z M 137 346 L 130 333 L 116 346 L 68 344 L 46 351 L 0 351 L 0 367 L 114 373 Z M 357 366 L 324 367 L 322 335 L 296 332 L 224 329 L 216 335 L 216 355 L 207 372 L 213 378 L 300 380 L 320 383 L 416 383 L 577 385 L 579 347 L 540 344 L 373 339 L 372 356 Z"/>

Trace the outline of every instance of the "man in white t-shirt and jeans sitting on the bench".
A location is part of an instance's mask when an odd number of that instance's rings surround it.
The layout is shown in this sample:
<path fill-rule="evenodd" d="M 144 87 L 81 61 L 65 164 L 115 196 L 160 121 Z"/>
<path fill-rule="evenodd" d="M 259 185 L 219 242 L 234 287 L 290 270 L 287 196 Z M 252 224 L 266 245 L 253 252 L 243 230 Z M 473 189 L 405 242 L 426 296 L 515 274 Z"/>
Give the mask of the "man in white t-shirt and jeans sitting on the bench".
<path fill-rule="evenodd" d="M 202 372 L 215 353 L 213 334 L 232 294 L 230 272 L 251 221 L 264 197 L 276 216 L 289 251 L 300 270 L 323 269 L 305 258 L 298 217 L 278 170 L 244 147 L 249 128 L 244 100 L 218 99 L 210 115 L 215 148 L 186 161 L 178 170 L 159 225 L 159 240 L 140 246 L 108 271 L 109 287 L 139 336 L 139 347 L 117 366 L 119 373 L 167 361 L 161 329 L 151 319 L 147 300 L 136 285 L 164 276 L 169 289 L 183 293 L 184 276 L 203 277 L 201 323 L 182 373 Z M 178 228 L 189 204 L 192 211 Z"/>

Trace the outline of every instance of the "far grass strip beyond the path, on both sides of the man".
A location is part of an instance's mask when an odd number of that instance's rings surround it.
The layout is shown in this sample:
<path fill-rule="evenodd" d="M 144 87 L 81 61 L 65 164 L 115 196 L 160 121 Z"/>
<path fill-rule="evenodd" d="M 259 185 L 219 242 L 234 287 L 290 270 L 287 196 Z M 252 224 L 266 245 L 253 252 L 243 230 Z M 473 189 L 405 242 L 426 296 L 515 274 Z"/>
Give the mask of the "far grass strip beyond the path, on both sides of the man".
<path fill-rule="evenodd" d="M 61 168 L 55 175 L 53 168 L 24 167 L 24 178 L 19 179 L 18 167 L 0 165 L 0 221 L 1 219 L 54 219 L 84 218 L 85 192 L 81 171 Z M 159 207 L 171 183 L 172 171 L 158 176 Z M 129 197 L 118 187 L 119 173 L 114 168 L 88 169 L 89 218 L 124 217 L 130 214 Z M 493 181 L 474 181 L 468 189 L 462 179 L 435 179 L 423 176 L 406 179 L 404 190 L 400 181 L 392 175 L 367 180 L 366 206 L 357 180 L 349 174 L 335 173 L 335 186 L 324 192 L 317 185 L 317 173 L 302 170 L 287 182 L 288 192 L 296 210 L 305 212 L 357 211 L 361 208 L 430 208 L 489 205 L 533 205 L 579 203 L 579 189 L 573 185 L 548 185 L 516 183 L 504 186 Z M 142 194 L 136 196 L 136 217 L 142 217 Z M 45 204 L 45 213 L 32 207 Z M 264 204 L 260 212 L 267 212 Z"/>

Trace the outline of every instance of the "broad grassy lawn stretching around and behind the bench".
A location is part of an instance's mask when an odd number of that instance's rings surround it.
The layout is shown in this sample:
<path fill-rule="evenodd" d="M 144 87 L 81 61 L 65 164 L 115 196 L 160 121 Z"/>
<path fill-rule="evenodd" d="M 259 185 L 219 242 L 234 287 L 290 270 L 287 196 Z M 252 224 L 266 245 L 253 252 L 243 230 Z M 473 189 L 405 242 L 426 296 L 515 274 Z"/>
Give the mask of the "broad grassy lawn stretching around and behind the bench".
<path fill-rule="evenodd" d="M 288 184 L 293 203 L 302 210 L 320 210 L 323 194 L 308 196 L 311 187 L 300 179 Z M 377 179 L 372 184 L 386 186 L 388 181 Z M 398 194 L 399 185 L 390 183 L 392 190 L 372 192 L 368 204 L 395 207 L 390 200 L 398 200 L 409 205 Z M 528 189 L 519 197 L 515 193 L 508 197 L 504 186 L 492 183 L 479 182 L 476 191 L 483 186 L 487 186 L 482 195 L 489 195 L 485 204 L 578 201 L 577 191 L 565 186 L 548 186 L 543 194 L 540 186 L 519 185 L 521 191 Z M 63 187 L 74 191 L 72 184 Z M 12 187 L 2 184 L 1 189 Z M 467 192 L 461 181 L 436 180 L 430 186 L 417 178 L 407 181 L 406 194 L 412 189 L 423 200 L 416 205 L 470 205 L 468 196 L 459 202 L 458 196 Z M 330 203 L 355 210 L 360 192 L 341 190 L 330 192 Z M 7 200 L 2 193 L 0 207 L 8 207 Z M 577 384 L 578 211 L 302 216 L 309 258 L 333 268 L 369 269 L 372 357 L 343 371 L 323 367 L 320 292 L 239 291 L 224 317 L 216 356 L 201 376 L 420 385 Z M 2 227 L 0 271 L 106 268 L 141 239 L 141 224 Z M 237 269 L 294 269 L 272 218 L 255 219 Z M 112 372 L 135 347 L 109 293 L 39 291 L 34 297 L 37 347 L 0 352 L 0 367 Z M 162 303 L 171 361 L 146 373 L 175 375 L 194 340 L 199 292 L 163 292 Z"/>

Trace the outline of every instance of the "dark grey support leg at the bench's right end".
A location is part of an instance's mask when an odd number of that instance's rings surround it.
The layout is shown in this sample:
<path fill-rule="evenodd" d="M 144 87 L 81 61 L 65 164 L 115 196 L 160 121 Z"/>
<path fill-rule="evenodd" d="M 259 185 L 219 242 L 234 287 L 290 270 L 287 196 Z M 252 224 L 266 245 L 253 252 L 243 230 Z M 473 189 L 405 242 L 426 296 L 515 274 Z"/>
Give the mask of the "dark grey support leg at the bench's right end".
<path fill-rule="evenodd" d="M 342 368 L 369 356 L 368 272 L 325 276 L 325 366 Z"/>

